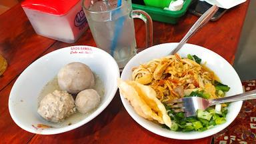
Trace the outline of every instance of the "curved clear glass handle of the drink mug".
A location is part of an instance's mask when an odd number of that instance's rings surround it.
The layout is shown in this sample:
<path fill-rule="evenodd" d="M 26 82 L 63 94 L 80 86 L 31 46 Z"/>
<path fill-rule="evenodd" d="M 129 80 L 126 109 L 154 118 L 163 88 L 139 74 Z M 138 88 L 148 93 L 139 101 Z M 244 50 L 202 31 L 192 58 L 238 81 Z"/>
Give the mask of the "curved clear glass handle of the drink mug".
<path fill-rule="evenodd" d="M 131 12 L 131 17 L 139 18 L 144 21 L 146 25 L 146 47 L 151 47 L 153 45 L 153 22 L 149 14 L 141 10 L 133 10 Z"/>

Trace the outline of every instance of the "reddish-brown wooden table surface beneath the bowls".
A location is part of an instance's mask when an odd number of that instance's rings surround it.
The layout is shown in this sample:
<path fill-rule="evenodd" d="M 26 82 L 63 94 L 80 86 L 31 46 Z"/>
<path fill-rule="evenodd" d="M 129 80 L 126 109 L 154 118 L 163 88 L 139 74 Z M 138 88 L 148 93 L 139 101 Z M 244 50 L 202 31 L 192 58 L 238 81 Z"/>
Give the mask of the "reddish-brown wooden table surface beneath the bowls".
<path fill-rule="evenodd" d="M 233 63 L 249 1 L 229 9 L 219 21 L 210 22 L 189 43 L 215 51 Z M 179 42 L 198 17 L 187 13 L 177 25 L 153 22 L 153 45 Z M 145 45 L 145 27 L 135 20 L 137 46 Z M 11 87 L 21 72 L 39 57 L 70 45 L 92 45 L 89 29 L 73 44 L 39 36 L 18 4 L 0 15 L 0 54 L 9 64 L 0 77 L 0 143 L 211 143 L 212 137 L 181 141 L 155 135 L 137 124 L 125 111 L 119 92 L 109 106 L 89 123 L 62 134 L 35 135 L 17 126 L 9 114 Z"/>

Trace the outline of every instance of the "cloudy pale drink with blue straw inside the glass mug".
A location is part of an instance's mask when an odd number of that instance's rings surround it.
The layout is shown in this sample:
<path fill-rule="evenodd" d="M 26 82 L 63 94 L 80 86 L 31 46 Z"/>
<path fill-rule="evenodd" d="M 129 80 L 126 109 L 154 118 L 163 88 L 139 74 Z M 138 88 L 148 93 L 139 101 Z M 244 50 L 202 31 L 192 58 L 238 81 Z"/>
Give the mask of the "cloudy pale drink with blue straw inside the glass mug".
<path fill-rule="evenodd" d="M 136 54 L 136 42 L 133 18 L 130 16 L 131 3 L 123 1 L 121 9 L 91 15 L 87 17 L 93 38 L 97 47 L 110 53 L 117 61 L 119 68 L 125 67 L 126 63 Z M 116 4 L 106 5 L 104 1 L 97 1 L 90 11 L 108 11 L 116 9 Z"/>

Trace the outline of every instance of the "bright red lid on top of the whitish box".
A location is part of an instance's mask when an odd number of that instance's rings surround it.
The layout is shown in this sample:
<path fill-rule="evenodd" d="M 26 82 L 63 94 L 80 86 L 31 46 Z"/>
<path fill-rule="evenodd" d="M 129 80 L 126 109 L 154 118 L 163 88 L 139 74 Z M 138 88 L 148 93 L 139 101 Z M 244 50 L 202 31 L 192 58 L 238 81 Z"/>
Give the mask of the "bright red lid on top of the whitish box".
<path fill-rule="evenodd" d="M 43 13 L 65 15 L 79 1 L 80 0 L 26 0 L 21 3 L 21 6 Z"/>

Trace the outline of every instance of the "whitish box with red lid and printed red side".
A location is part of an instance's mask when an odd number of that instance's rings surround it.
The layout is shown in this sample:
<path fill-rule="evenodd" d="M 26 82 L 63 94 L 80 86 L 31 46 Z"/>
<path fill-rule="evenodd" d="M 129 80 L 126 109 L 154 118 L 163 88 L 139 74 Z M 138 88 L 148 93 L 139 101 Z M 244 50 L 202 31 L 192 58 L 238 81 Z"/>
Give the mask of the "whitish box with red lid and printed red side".
<path fill-rule="evenodd" d="M 26 0 L 21 7 L 38 35 L 74 43 L 88 28 L 81 0 Z"/>

